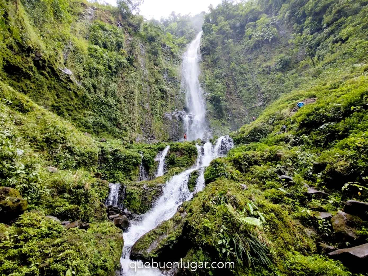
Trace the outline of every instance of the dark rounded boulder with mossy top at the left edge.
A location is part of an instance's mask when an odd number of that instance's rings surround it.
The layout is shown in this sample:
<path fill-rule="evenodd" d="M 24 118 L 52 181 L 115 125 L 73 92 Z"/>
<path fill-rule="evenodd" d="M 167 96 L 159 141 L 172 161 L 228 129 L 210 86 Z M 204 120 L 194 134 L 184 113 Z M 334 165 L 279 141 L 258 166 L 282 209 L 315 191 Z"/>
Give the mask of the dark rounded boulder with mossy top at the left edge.
<path fill-rule="evenodd" d="M 10 187 L 0 187 L 0 223 L 17 219 L 27 209 L 27 201 L 20 193 Z"/>

